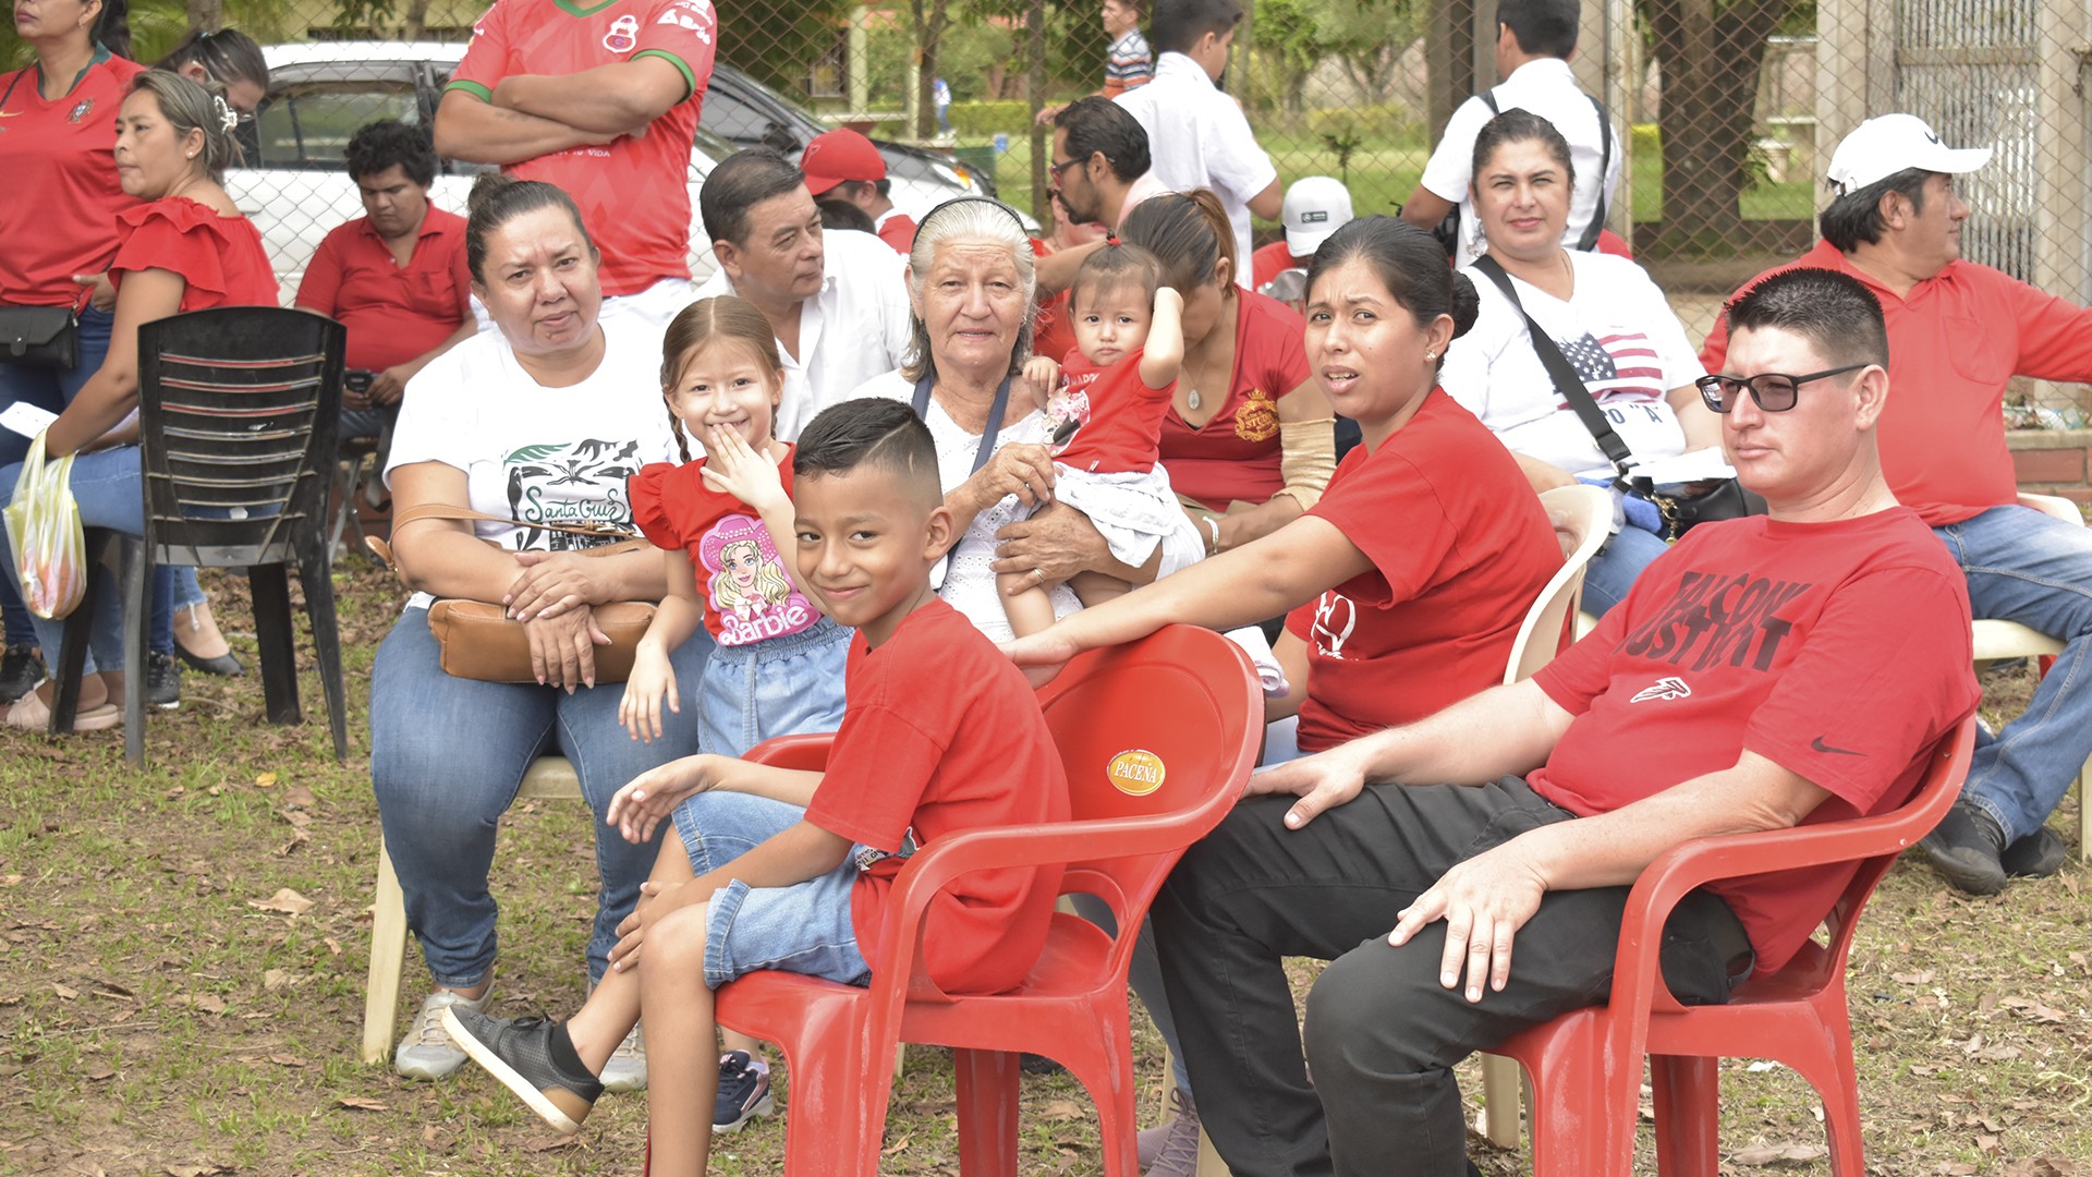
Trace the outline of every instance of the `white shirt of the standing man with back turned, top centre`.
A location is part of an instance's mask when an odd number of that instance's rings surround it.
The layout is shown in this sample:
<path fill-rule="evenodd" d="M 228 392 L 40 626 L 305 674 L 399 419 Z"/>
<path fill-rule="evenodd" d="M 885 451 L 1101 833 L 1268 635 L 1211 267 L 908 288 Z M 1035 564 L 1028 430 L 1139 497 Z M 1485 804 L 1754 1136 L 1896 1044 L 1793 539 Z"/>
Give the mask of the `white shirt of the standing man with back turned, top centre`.
<path fill-rule="evenodd" d="M 1249 197 L 1272 186 L 1278 168 L 1257 147 L 1243 107 L 1197 61 L 1165 52 L 1155 82 L 1113 98 L 1149 132 L 1153 176 L 1172 193 L 1213 188 L 1234 226 L 1234 279 L 1249 287 Z M 1477 124 L 1479 126 L 1479 124 Z"/>

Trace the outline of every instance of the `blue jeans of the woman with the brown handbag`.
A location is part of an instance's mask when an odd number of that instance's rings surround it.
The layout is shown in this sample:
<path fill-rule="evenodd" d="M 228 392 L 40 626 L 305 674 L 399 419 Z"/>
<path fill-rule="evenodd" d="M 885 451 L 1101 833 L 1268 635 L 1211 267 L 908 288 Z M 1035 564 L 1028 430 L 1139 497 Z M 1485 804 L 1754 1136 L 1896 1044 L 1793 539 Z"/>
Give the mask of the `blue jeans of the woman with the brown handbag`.
<path fill-rule="evenodd" d="M 692 697 L 705 672 L 705 632 L 669 656 L 676 689 Z M 487 892 L 494 829 L 540 754 L 573 760 L 596 813 L 596 926 L 588 976 L 600 980 L 653 869 L 659 834 L 634 846 L 602 825 L 611 796 L 632 777 L 697 752 L 697 725 L 669 725 L 642 743 L 617 725 L 623 683 L 571 695 L 536 683 L 452 679 L 439 664 L 429 609 L 410 607 L 370 668 L 370 790 L 385 848 L 406 892 L 406 924 L 437 984 L 469 989 L 494 965 L 496 903 Z"/>

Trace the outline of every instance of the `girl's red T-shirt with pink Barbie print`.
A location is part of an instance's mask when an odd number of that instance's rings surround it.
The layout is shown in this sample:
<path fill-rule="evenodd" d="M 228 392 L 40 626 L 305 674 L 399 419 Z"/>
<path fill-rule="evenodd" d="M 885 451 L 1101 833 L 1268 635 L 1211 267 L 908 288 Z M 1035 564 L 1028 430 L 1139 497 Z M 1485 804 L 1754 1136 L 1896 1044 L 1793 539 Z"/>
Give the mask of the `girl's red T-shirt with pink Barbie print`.
<path fill-rule="evenodd" d="M 778 482 L 791 494 L 791 454 Z M 820 614 L 795 588 L 770 528 L 753 507 L 705 486 L 705 461 L 651 463 L 626 486 L 632 521 L 646 542 L 690 555 L 705 599 L 705 628 L 720 645 L 749 645 L 810 628 Z"/>

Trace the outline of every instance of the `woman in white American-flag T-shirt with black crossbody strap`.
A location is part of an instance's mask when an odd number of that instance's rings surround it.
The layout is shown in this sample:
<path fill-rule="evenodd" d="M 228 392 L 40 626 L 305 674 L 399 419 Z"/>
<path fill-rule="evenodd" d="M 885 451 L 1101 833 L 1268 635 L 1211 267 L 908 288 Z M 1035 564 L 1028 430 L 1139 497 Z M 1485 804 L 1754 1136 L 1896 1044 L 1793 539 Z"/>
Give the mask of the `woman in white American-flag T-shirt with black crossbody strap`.
<path fill-rule="evenodd" d="M 1510 276 L 1519 304 L 1575 367 L 1628 452 L 1648 463 L 1720 446 L 1720 419 L 1692 387 L 1707 373 L 1657 283 L 1625 258 L 1563 247 L 1573 191 L 1569 142 L 1554 124 L 1510 109 L 1481 128 L 1473 201 L 1485 256 Z M 1475 264 L 1466 274 L 1481 314 L 1446 352 L 1439 383 L 1510 448 L 1533 490 L 1609 484 L 1613 463 L 1556 392 L 1525 314 Z M 1584 612 L 1617 605 L 1663 551 L 1630 513 L 1584 576 Z"/>

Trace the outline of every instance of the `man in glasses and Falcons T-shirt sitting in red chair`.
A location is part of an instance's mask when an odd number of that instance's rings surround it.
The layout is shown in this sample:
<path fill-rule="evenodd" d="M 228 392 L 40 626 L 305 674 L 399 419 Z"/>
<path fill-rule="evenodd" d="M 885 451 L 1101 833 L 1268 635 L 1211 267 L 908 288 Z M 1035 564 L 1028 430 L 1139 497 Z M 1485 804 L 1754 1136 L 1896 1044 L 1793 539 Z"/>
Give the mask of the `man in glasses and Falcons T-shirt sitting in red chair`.
<path fill-rule="evenodd" d="M 1605 1001 L 1648 863 L 1893 810 L 1975 710 L 1962 576 L 1874 450 L 1879 304 L 1795 270 L 1730 314 L 1705 394 L 1770 515 L 1692 528 L 1533 679 L 1253 775 L 1155 901 L 1203 1120 L 1238 1177 L 1475 1173 L 1454 1064 Z M 1854 869 L 1695 890 L 1665 984 L 1728 1001 L 1807 942 Z M 1291 955 L 1333 961 L 1303 1041 Z"/>

